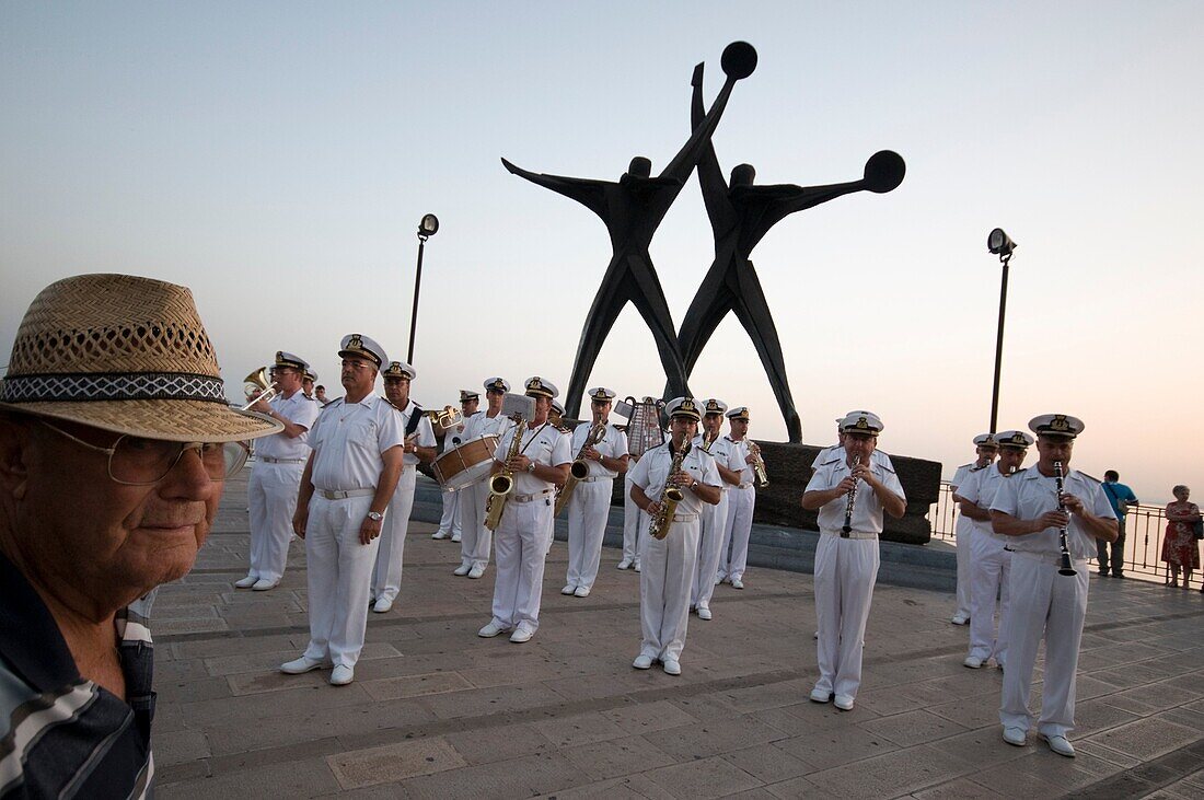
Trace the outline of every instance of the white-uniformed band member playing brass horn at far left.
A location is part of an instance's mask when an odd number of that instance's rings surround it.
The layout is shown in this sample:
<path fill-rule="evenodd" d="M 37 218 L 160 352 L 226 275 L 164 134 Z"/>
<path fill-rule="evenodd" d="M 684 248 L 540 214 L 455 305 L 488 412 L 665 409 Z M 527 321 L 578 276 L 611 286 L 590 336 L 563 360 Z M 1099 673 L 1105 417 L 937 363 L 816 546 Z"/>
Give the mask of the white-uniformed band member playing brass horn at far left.
<path fill-rule="evenodd" d="M 265 592 L 284 576 L 293 539 L 293 515 L 297 509 L 301 473 L 309 458 L 306 439 L 318 419 L 318 404 L 301 393 L 301 375 L 309 368 L 300 356 L 277 350 L 272 381 L 277 395 L 256 402 L 250 410 L 265 414 L 284 429 L 255 442 L 255 467 L 247 485 L 250 515 L 250 569 L 235 581 L 238 588 Z"/>

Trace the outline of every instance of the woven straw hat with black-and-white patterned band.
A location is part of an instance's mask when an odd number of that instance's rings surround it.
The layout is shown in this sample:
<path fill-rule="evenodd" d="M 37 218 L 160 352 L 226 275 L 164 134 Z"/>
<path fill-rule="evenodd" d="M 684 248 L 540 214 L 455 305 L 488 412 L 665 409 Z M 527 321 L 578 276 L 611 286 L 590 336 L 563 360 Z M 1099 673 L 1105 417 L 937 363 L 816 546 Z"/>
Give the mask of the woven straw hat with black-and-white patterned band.
<path fill-rule="evenodd" d="M 135 275 L 76 275 L 43 289 L 17 330 L 0 408 L 169 442 L 283 429 L 230 408 L 191 292 Z"/>

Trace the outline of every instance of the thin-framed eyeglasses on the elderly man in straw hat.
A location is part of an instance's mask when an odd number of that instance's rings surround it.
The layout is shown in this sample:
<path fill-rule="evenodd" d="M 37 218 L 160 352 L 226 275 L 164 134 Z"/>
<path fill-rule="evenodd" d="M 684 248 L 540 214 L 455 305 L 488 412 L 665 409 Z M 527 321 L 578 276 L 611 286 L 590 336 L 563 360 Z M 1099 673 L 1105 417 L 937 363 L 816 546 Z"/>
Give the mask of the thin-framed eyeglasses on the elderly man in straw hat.
<path fill-rule="evenodd" d="M 101 448 L 39 420 L 49 429 L 78 445 L 108 456 L 108 476 L 125 486 L 153 486 L 176 468 L 185 450 L 195 450 L 212 481 L 224 481 L 238 474 L 247 463 L 247 448 L 241 442 L 165 442 L 122 434 L 111 448 Z"/>

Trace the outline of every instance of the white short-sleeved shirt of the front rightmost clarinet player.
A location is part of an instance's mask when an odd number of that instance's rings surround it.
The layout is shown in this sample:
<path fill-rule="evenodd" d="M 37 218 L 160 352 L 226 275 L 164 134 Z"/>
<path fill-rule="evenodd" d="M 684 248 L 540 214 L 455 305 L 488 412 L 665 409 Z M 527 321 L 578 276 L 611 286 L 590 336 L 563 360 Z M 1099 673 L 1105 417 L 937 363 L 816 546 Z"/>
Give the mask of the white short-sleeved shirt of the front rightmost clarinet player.
<path fill-rule="evenodd" d="M 1082 500 L 1084 508 L 1091 514 L 1106 520 L 1116 518 L 1099 481 L 1072 469 L 1063 480 L 1063 491 Z M 1035 467 L 1016 473 L 1003 481 L 1003 488 L 995 496 L 991 510 L 1010 514 L 1019 520 L 1035 520 L 1046 511 L 1057 510 L 1057 481 L 1045 478 Z M 1062 552 L 1060 540 L 1057 528 L 1045 528 L 1022 537 L 1008 537 L 1008 547 L 1016 552 L 1056 557 Z M 1082 523 L 1074 514 L 1067 526 L 1066 544 L 1075 561 L 1096 555 L 1096 538 L 1082 529 Z"/>

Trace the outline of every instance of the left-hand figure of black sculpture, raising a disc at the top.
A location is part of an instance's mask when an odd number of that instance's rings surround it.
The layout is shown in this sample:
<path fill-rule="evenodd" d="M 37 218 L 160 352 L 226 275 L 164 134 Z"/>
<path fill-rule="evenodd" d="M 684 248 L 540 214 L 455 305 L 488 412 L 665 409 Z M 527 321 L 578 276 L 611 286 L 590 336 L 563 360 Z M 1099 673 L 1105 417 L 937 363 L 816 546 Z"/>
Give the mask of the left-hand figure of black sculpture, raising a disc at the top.
<path fill-rule="evenodd" d="M 573 361 L 573 374 L 565 396 L 568 416 L 578 416 L 585 381 L 594 369 L 602 343 L 619 312 L 628 302 L 636 306 L 653 332 L 668 380 L 669 396 L 686 393 L 686 367 L 678 349 L 678 337 L 674 334 L 665 291 L 648 248 L 704 148 L 709 147 L 710 136 L 736 82 L 756 70 L 756 51 L 746 42 L 733 42 L 724 49 L 721 64 L 727 81 L 714 105 L 706 115 L 698 114 L 689 141 L 655 178 L 650 177 L 651 161 L 643 156 L 633 158 L 627 172 L 618 182 L 539 174 L 520 170 L 502 159 L 502 164 L 513 174 L 560 192 L 592 211 L 602 218 L 610 233 L 614 254 L 585 318 Z"/>

